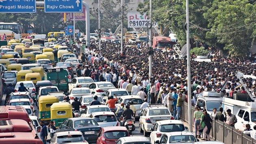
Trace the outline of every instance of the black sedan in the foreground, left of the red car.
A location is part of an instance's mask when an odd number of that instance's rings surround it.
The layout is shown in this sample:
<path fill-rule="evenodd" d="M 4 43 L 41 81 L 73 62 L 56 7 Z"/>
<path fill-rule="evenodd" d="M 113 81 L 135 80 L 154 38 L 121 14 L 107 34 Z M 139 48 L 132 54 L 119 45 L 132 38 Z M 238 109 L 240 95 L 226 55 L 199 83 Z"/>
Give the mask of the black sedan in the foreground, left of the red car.
<path fill-rule="evenodd" d="M 61 126 L 56 129 L 56 132 L 77 130 L 82 132 L 87 142 L 94 143 L 98 139 L 98 133 L 100 133 L 101 127 L 92 118 L 76 117 L 66 119 Z"/>

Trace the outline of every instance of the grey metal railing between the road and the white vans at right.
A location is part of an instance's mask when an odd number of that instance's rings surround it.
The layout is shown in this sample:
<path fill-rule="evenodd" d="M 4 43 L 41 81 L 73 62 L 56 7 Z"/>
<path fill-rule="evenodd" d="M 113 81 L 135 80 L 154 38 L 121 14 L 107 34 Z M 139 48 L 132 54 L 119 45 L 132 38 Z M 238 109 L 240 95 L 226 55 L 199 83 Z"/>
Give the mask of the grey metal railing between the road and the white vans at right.
<path fill-rule="evenodd" d="M 192 119 L 194 120 L 195 107 L 192 106 L 192 110 L 188 110 L 188 104 L 187 102 L 184 102 L 180 118 L 185 122 L 188 122 L 188 112 L 192 112 Z M 194 123 L 192 125 L 193 127 L 195 126 Z M 210 136 L 214 140 L 223 142 L 225 144 L 256 144 L 256 140 L 253 138 L 236 130 L 230 125 L 223 123 L 222 121 L 214 119 L 212 123 L 212 129 L 210 131 Z"/>

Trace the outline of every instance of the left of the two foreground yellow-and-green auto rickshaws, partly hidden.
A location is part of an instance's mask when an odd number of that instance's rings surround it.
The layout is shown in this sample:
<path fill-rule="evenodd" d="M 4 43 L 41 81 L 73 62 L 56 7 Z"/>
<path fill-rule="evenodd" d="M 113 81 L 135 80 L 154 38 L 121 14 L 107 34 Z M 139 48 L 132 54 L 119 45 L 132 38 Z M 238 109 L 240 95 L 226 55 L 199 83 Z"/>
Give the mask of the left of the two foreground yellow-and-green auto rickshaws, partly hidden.
<path fill-rule="evenodd" d="M 51 120 L 51 106 L 54 103 L 59 103 L 59 99 L 54 96 L 42 96 L 38 99 L 39 114 L 38 118 L 41 121 L 50 122 Z"/>

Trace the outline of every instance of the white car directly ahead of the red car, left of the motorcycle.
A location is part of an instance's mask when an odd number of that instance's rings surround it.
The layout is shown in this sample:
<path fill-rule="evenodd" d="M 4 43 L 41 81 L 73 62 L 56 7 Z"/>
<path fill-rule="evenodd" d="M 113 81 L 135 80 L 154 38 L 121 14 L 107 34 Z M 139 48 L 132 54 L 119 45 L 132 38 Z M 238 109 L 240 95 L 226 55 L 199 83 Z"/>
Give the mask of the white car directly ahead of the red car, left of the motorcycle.
<path fill-rule="evenodd" d="M 114 112 L 93 112 L 91 113 L 90 118 L 97 121 L 100 127 L 111 127 L 120 125 Z"/>

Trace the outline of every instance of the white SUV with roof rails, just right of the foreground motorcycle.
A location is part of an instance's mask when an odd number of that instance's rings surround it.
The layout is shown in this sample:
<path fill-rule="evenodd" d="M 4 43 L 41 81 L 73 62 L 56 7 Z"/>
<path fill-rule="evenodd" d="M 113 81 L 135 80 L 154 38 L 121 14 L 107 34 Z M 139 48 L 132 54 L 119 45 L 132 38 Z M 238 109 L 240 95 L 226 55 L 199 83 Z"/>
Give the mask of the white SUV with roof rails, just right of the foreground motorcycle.
<path fill-rule="evenodd" d="M 143 109 L 139 113 L 139 128 L 143 132 L 144 136 L 150 134 L 150 129 L 154 126 L 156 121 L 161 120 L 174 120 L 174 117 L 171 115 L 171 112 L 164 104 L 150 104 L 148 108 Z"/>

